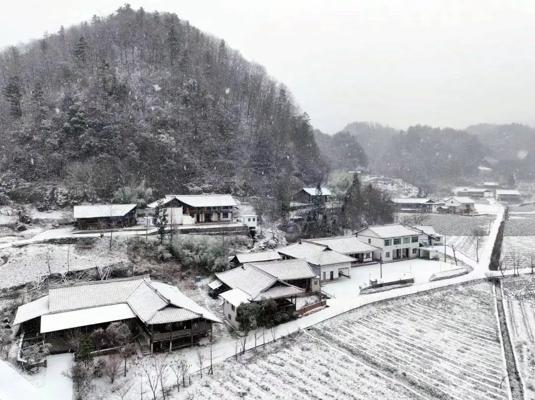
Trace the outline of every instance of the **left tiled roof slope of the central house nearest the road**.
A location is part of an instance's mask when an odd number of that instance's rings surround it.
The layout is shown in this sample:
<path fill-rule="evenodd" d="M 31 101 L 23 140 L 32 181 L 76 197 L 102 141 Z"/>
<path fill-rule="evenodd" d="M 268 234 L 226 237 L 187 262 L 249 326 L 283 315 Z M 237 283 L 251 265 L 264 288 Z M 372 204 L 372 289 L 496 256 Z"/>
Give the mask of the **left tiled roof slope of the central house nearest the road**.
<path fill-rule="evenodd" d="M 225 272 L 217 272 L 216 277 L 225 285 L 233 289 L 241 289 L 253 297 L 277 281 L 277 278 L 270 274 L 247 264 Z"/>

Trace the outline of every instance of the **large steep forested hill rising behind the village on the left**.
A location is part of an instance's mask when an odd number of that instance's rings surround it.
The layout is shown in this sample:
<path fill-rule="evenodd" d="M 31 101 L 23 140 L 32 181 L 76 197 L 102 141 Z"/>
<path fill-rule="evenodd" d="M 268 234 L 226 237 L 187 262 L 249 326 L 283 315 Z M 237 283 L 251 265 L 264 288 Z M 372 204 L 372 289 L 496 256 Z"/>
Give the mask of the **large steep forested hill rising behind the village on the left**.
<path fill-rule="evenodd" d="M 5 49 L 0 87 L 3 185 L 247 195 L 326 174 L 288 89 L 175 14 L 125 5 Z"/>

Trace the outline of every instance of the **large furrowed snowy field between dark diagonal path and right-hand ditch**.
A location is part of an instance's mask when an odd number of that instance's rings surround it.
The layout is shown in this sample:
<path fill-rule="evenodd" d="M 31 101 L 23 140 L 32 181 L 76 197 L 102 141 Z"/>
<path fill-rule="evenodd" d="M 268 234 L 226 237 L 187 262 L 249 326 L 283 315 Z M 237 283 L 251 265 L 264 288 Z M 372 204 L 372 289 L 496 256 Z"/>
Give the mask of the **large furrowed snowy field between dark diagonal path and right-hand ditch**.
<path fill-rule="evenodd" d="M 500 389 L 505 366 L 488 283 L 355 310 L 311 333 L 422 397 L 508 398 L 507 385 Z"/>

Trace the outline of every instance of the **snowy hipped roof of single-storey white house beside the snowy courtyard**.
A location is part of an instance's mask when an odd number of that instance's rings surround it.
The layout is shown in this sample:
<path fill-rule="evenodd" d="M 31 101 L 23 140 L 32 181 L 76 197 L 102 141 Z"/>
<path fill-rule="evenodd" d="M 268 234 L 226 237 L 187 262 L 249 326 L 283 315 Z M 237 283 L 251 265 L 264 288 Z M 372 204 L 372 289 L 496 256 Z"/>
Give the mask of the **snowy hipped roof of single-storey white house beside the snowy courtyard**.
<path fill-rule="evenodd" d="M 302 240 L 300 242 L 277 249 L 280 254 L 293 258 L 304 258 L 310 264 L 325 266 L 332 264 L 350 263 L 355 258 L 339 253 L 332 248 L 318 243 Z"/>

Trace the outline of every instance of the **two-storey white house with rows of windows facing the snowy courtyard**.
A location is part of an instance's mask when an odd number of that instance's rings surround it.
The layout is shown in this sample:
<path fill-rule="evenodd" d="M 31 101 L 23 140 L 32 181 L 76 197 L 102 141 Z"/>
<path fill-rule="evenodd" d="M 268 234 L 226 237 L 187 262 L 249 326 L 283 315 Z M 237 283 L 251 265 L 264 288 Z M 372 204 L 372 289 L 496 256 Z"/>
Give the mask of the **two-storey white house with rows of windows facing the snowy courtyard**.
<path fill-rule="evenodd" d="M 357 232 L 358 240 L 379 247 L 373 258 L 383 262 L 419 257 L 421 236 L 422 231 L 399 224 L 368 226 Z"/>

